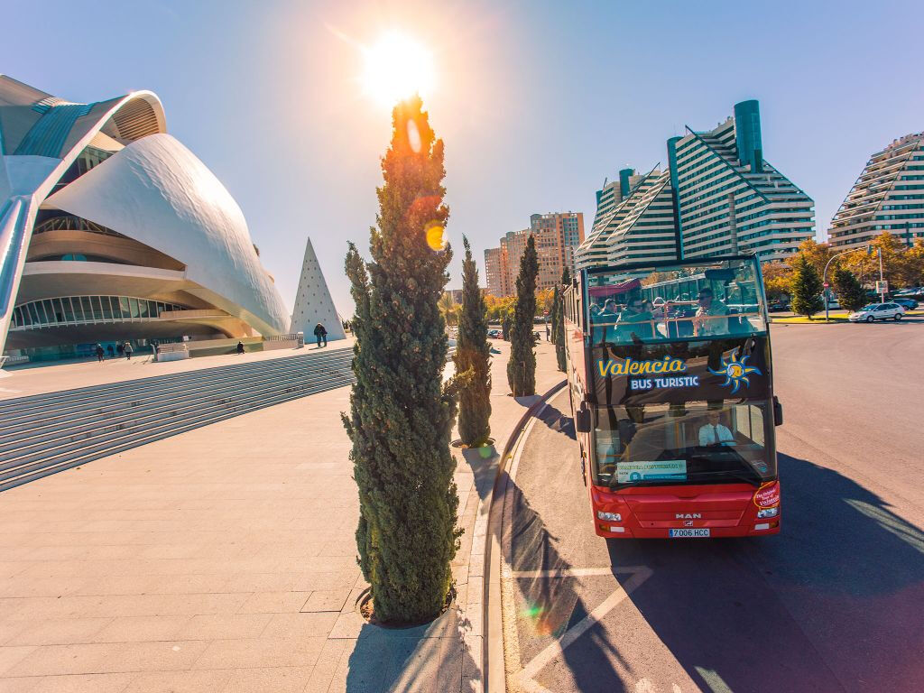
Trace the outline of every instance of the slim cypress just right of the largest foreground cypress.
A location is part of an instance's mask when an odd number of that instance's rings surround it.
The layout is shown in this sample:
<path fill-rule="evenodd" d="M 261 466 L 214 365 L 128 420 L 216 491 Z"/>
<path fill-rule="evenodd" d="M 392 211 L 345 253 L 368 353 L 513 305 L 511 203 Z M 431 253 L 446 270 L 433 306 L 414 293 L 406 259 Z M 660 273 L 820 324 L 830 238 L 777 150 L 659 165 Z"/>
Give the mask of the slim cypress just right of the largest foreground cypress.
<path fill-rule="evenodd" d="M 488 315 L 478 286 L 478 266 L 471 256 L 468 238 L 462 237 L 462 313 L 456 346 L 456 373 L 469 372 L 459 391 L 459 438 L 470 447 L 480 447 L 491 435 L 491 345 L 488 344 Z"/>

